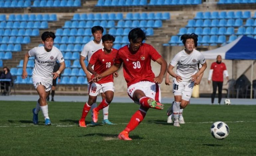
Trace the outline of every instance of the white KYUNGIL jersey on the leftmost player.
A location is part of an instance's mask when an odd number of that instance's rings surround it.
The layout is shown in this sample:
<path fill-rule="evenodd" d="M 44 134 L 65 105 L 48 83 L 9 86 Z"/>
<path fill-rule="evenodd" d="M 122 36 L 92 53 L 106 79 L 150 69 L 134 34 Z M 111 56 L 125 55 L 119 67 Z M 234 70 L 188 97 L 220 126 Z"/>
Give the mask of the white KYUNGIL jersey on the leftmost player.
<path fill-rule="evenodd" d="M 61 51 L 55 46 L 49 52 L 45 50 L 44 46 L 34 47 L 29 50 L 29 56 L 35 56 L 33 76 L 42 77 L 50 81 L 53 80 L 53 68 L 56 60 L 58 59 L 60 63 L 64 61 Z"/>

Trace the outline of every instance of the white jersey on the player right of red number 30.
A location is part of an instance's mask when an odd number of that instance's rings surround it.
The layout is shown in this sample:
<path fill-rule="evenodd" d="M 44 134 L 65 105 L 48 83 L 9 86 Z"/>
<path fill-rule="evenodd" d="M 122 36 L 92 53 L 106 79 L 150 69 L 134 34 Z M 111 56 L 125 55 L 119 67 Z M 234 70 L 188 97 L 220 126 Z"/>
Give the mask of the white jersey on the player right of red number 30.
<path fill-rule="evenodd" d="M 199 64 L 205 63 L 204 56 L 198 51 L 193 50 L 191 54 L 185 50 L 176 54 L 171 61 L 172 66 L 177 65 L 176 74 L 182 77 L 182 81 L 191 82 L 191 76 L 198 71 Z"/>

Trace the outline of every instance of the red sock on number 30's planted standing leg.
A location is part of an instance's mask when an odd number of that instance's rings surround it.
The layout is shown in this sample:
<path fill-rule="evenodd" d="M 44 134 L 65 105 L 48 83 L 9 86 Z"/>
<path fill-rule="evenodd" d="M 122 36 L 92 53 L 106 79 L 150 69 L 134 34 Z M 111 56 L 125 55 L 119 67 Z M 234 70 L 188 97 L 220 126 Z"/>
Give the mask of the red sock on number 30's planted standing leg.
<path fill-rule="evenodd" d="M 130 122 L 127 124 L 127 126 L 124 130 L 129 133 L 134 128 L 136 128 L 140 124 L 140 122 L 144 119 L 144 117 L 146 116 L 146 113 L 147 112 L 142 111 L 142 110 L 138 110 L 137 112 L 135 112 L 134 115 L 132 116 Z"/>

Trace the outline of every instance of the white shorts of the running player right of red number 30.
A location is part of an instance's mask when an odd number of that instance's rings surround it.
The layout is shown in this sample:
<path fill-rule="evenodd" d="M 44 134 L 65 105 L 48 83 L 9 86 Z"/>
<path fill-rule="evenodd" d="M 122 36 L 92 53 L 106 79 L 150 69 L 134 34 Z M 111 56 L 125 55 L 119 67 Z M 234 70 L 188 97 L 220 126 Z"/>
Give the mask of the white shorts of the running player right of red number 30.
<path fill-rule="evenodd" d="M 177 82 L 176 78 L 173 79 L 173 94 L 174 96 L 182 96 L 183 100 L 190 101 L 194 82 Z"/>

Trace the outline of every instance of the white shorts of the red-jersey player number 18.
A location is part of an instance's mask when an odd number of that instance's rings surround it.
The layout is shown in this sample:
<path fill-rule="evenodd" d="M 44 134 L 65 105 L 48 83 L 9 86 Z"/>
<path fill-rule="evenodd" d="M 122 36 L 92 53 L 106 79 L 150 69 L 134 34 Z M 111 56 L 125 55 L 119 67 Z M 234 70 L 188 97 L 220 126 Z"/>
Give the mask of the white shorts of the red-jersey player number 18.
<path fill-rule="evenodd" d="M 103 93 L 105 93 L 106 91 L 114 92 L 114 83 L 107 82 L 107 83 L 98 84 L 93 82 L 89 85 L 89 95 L 91 96 L 97 96 L 101 90 L 103 91 Z"/>

